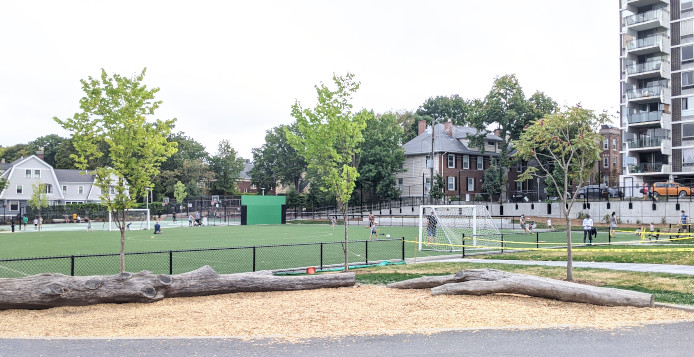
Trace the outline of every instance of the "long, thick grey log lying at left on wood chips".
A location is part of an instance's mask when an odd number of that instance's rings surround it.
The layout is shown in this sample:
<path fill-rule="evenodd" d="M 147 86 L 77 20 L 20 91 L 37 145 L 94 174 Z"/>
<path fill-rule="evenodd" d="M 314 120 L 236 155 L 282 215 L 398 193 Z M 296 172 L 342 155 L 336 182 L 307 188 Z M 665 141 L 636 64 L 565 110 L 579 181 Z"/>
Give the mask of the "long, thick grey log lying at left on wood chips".
<path fill-rule="evenodd" d="M 220 275 L 209 266 L 177 275 L 149 271 L 109 276 L 39 274 L 0 279 L 0 309 L 154 302 L 165 297 L 336 288 L 355 282 L 354 273 L 274 276 L 262 271 Z"/>

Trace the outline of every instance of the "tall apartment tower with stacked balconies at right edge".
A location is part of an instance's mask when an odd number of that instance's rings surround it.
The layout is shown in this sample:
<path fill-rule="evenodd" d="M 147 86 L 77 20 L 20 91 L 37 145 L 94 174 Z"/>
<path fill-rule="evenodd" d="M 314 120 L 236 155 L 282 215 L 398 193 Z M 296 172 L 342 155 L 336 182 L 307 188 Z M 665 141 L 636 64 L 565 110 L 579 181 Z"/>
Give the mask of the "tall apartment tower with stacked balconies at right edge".
<path fill-rule="evenodd" d="M 694 183 L 692 4 L 620 0 L 623 186 Z"/>

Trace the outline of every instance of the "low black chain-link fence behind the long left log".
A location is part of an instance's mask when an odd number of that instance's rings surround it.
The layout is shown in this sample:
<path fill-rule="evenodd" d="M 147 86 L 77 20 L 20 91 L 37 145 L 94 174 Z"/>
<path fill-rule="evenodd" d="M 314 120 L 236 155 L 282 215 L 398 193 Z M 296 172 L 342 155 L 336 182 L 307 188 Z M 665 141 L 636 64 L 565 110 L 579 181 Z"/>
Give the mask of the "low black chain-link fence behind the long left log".
<path fill-rule="evenodd" d="M 252 247 L 167 250 L 125 254 L 128 271 L 149 270 L 155 274 L 180 274 L 205 265 L 220 274 L 258 270 L 282 270 L 344 264 L 344 242 L 279 244 Z M 405 239 L 350 241 L 350 264 L 373 264 L 383 260 L 404 260 Z M 0 260 L 0 277 L 18 278 L 41 273 L 71 276 L 120 273 L 120 255 L 90 254 Z"/>

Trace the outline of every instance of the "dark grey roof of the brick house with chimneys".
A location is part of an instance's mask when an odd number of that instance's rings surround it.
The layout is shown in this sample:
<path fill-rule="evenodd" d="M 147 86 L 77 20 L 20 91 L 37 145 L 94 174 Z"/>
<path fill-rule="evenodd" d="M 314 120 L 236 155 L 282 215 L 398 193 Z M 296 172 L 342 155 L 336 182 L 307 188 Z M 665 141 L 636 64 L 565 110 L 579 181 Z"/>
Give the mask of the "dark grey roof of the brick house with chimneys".
<path fill-rule="evenodd" d="M 434 136 L 434 152 L 447 152 L 456 154 L 476 154 L 479 155 L 480 150 L 477 148 L 469 148 L 460 140 L 467 138 L 468 135 L 475 135 L 477 130 L 470 127 L 453 125 L 452 135 L 444 132 L 444 124 L 436 124 Z M 500 137 L 487 133 L 485 140 L 502 141 Z M 405 155 L 424 155 L 431 153 L 431 129 L 418 135 L 414 139 L 403 145 Z M 488 152 L 491 156 L 496 156 L 498 153 Z"/>

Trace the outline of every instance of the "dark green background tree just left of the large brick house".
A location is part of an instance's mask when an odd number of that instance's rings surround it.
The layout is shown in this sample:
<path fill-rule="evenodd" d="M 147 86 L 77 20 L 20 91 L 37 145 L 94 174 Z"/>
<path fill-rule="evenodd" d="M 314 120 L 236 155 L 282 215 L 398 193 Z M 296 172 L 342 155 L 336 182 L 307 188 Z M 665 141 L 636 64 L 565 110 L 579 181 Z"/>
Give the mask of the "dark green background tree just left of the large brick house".
<path fill-rule="evenodd" d="M 369 113 L 360 145 L 359 179 L 357 187 L 369 193 L 371 202 L 394 200 L 400 197 L 395 175 L 403 172 L 405 150 L 403 129 L 394 113 L 374 116 Z"/>

